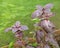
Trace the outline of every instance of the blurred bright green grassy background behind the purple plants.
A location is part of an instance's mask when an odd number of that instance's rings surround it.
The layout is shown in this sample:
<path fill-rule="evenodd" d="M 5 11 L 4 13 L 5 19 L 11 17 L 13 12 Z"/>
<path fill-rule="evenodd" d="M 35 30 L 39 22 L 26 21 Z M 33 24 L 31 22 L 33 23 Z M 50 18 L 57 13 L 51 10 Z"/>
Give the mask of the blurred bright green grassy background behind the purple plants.
<path fill-rule="evenodd" d="M 55 16 L 51 20 L 56 25 L 56 28 L 59 29 L 60 0 L 0 0 L 0 47 L 15 40 L 11 31 L 6 33 L 4 30 L 18 20 L 21 24 L 29 27 L 29 30 L 24 32 L 26 35 L 33 31 L 34 22 L 32 22 L 31 14 L 36 9 L 36 5 L 43 6 L 47 3 L 54 4 L 52 11 L 55 12 Z"/>

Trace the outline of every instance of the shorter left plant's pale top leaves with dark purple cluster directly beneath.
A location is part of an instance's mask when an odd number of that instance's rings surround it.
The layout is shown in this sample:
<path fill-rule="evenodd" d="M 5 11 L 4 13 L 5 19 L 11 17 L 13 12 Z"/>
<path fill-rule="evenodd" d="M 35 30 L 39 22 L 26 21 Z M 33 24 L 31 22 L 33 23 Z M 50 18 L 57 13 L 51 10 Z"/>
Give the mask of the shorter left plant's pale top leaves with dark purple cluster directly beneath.
<path fill-rule="evenodd" d="M 24 30 L 28 30 L 28 27 L 26 25 L 21 25 L 19 21 L 16 21 L 16 23 L 12 26 L 7 28 L 5 31 L 8 32 L 9 30 L 12 30 L 13 33 L 15 33 L 15 37 L 18 39 L 23 38 L 23 32 Z"/>

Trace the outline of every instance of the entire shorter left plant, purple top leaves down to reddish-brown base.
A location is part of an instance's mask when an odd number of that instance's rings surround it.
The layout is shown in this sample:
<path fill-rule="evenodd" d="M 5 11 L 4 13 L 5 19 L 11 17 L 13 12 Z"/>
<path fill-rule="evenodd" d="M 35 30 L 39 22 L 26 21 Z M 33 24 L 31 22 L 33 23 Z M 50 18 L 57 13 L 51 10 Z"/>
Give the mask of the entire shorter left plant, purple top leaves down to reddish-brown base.
<path fill-rule="evenodd" d="M 16 21 L 12 27 L 7 28 L 5 31 L 8 32 L 9 30 L 12 30 L 12 32 L 15 33 L 15 37 L 17 38 L 17 41 L 14 43 L 14 48 L 24 47 L 26 43 L 23 41 L 22 31 L 28 30 L 28 27 L 26 25 L 21 25 L 19 21 Z"/>

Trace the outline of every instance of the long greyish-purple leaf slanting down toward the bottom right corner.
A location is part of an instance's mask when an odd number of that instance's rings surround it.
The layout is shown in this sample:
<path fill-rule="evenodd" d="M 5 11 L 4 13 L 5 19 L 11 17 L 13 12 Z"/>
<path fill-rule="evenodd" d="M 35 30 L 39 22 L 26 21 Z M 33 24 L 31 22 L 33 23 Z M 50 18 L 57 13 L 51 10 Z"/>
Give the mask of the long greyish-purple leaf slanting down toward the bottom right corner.
<path fill-rule="evenodd" d="M 54 39 L 53 35 L 51 33 L 46 35 L 45 41 L 48 42 L 50 45 L 52 45 L 55 48 L 59 48 L 58 43 Z"/>

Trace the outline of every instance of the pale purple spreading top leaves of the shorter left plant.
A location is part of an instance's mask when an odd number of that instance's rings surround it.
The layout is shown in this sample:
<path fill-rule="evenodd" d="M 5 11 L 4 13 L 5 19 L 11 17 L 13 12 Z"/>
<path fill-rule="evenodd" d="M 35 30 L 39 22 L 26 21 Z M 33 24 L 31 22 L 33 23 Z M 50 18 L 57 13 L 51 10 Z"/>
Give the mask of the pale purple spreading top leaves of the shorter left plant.
<path fill-rule="evenodd" d="M 16 21 L 16 23 L 12 27 L 7 28 L 5 31 L 8 32 L 9 30 L 12 30 L 12 32 L 15 33 L 18 30 L 28 30 L 28 27 L 26 25 L 21 25 L 19 21 Z"/>

